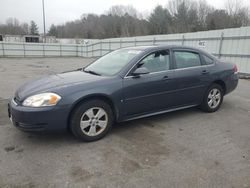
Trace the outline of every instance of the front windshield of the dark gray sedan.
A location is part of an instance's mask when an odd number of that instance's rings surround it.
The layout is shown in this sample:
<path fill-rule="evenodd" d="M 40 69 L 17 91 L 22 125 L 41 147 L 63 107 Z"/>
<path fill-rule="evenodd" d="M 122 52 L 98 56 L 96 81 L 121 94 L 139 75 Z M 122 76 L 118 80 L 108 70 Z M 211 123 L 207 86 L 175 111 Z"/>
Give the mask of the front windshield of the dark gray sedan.
<path fill-rule="evenodd" d="M 84 71 L 97 75 L 113 76 L 120 72 L 121 69 L 140 52 L 140 50 L 132 49 L 113 51 L 87 66 Z"/>

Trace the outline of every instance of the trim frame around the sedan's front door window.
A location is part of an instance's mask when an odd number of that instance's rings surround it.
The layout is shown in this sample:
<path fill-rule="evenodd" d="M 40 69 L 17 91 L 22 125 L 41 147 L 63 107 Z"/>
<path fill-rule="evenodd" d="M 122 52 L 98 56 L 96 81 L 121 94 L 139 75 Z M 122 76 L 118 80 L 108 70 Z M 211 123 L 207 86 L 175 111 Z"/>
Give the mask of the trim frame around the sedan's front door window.
<path fill-rule="evenodd" d="M 150 74 L 156 74 L 156 73 L 162 73 L 162 72 L 168 72 L 168 71 L 172 71 L 174 70 L 174 67 L 173 67 L 173 61 L 172 61 L 172 51 L 171 49 L 169 48 L 166 48 L 166 49 L 157 49 L 157 50 L 154 50 L 154 51 L 151 51 L 145 55 L 143 55 L 138 61 L 136 61 L 136 63 L 128 70 L 128 72 L 125 74 L 125 76 L 123 78 L 131 78 L 131 77 L 134 77 L 132 75 L 130 75 L 132 73 L 132 71 L 134 70 L 134 68 L 143 60 L 145 59 L 147 56 L 155 53 L 155 52 L 158 52 L 158 51 L 168 51 L 169 52 L 169 70 L 162 70 L 162 71 L 157 71 L 157 72 L 150 72 Z"/>

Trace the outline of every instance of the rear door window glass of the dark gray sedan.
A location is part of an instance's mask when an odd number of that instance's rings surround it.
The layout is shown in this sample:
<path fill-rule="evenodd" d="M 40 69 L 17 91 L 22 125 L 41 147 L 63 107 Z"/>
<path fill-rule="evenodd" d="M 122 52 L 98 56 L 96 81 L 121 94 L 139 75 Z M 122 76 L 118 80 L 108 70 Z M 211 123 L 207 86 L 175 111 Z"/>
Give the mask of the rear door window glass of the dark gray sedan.
<path fill-rule="evenodd" d="M 177 69 L 201 66 L 200 55 L 189 51 L 174 51 Z"/>

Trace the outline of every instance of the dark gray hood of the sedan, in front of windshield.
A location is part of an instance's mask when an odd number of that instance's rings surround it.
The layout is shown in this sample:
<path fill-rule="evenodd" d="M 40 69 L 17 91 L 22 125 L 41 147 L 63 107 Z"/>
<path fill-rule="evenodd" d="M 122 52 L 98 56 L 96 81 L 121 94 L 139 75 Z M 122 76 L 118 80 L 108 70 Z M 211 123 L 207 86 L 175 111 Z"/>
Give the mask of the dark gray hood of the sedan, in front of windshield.
<path fill-rule="evenodd" d="M 56 88 L 66 87 L 69 85 L 93 82 L 100 79 L 104 79 L 104 77 L 85 73 L 83 71 L 72 71 L 44 76 L 21 86 L 16 91 L 15 97 L 22 101 L 26 97 L 33 94 L 48 92 Z"/>

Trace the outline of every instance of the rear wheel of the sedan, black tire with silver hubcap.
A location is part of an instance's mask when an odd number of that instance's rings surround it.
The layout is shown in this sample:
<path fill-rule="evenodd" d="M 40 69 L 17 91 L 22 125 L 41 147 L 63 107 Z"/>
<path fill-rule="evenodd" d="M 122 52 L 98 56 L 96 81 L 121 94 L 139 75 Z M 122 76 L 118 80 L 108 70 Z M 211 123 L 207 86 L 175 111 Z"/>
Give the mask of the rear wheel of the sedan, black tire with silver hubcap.
<path fill-rule="evenodd" d="M 223 102 L 223 89 L 218 84 L 212 84 L 206 91 L 200 105 L 204 112 L 216 112 Z"/>

